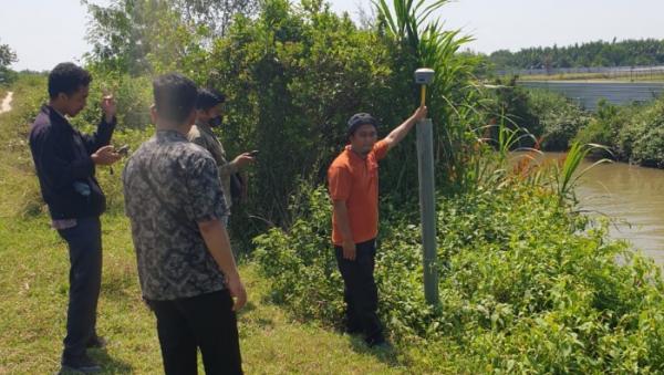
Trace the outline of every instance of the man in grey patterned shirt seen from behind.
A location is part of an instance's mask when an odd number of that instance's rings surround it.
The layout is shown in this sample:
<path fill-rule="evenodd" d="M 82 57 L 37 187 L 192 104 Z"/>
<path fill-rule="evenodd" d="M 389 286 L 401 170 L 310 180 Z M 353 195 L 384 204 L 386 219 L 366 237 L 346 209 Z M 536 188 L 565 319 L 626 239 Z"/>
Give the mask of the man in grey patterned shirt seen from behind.
<path fill-rule="evenodd" d="M 247 293 L 221 223 L 226 200 L 215 160 L 186 137 L 197 88 L 179 74 L 157 77 L 153 88 L 157 133 L 127 162 L 123 184 L 164 369 L 196 374 L 200 348 L 207 374 L 241 374 L 235 312 Z"/>

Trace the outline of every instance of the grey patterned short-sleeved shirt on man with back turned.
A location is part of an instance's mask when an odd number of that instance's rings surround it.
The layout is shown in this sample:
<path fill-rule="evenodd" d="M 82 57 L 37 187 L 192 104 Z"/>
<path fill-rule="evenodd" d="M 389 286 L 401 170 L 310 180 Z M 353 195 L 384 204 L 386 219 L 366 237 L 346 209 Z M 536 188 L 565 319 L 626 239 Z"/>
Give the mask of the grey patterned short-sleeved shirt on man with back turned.
<path fill-rule="evenodd" d="M 175 300 L 225 288 L 198 222 L 227 216 L 217 165 L 177 132 L 159 131 L 123 171 L 144 298 Z"/>

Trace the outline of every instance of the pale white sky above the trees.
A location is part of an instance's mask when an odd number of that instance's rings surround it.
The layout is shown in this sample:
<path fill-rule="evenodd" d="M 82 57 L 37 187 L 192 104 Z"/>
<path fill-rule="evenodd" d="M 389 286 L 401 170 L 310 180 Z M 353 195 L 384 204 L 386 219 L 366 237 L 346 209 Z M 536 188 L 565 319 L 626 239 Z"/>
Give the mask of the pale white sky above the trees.
<path fill-rule="evenodd" d="M 372 8 L 370 0 L 330 2 L 355 19 L 360 7 Z M 50 70 L 62 61 L 80 62 L 90 51 L 80 0 L 0 0 L 0 43 L 17 52 L 15 70 Z M 459 0 L 436 15 L 449 29 L 474 35 L 468 48 L 490 53 L 613 38 L 664 39 L 662 14 L 662 0 Z"/>

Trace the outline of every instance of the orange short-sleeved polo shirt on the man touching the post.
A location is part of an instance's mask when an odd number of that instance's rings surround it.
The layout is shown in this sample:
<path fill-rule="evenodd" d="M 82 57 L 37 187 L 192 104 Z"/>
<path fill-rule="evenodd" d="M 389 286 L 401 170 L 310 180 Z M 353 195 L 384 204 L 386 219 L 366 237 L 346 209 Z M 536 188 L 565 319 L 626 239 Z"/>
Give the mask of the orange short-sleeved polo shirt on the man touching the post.
<path fill-rule="evenodd" d="M 346 146 L 328 169 L 330 197 L 345 200 L 353 241 L 361 243 L 378 235 L 378 162 L 387 154 L 387 143 L 378 140 L 366 159 Z M 332 216 L 332 242 L 343 243 L 336 217 Z"/>

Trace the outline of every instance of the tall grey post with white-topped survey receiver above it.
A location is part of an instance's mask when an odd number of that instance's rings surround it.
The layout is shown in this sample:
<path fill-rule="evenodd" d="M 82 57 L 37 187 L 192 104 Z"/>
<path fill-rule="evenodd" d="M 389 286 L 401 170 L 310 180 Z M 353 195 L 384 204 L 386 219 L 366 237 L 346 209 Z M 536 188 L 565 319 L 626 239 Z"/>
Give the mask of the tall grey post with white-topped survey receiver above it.
<path fill-rule="evenodd" d="M 418 69 L 415 82 L 422 85 L 421 105 L 426 103 L 426 85 L 434 81 L 434 71 Z M 417 166 L 419 176 L 419 207 L 422 219 L 422 247 L 424 264 L 424 296 L 437 305 L 438 271 L 436 269 L 436 197 L 434 186 L 434 129 L 430 118 L 417 123 Z"/>

